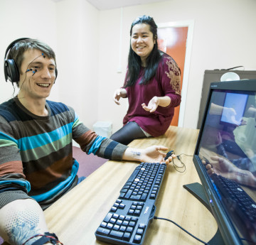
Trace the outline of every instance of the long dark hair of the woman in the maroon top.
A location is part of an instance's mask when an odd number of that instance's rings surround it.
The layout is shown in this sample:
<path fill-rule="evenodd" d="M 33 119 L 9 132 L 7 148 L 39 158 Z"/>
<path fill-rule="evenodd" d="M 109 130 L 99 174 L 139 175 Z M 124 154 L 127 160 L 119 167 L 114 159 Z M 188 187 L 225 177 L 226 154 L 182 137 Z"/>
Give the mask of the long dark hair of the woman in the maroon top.
<path fill-rule="evenodd" d="M 159 64 L 159 60 L 161 59 L 161 55 L 158 50 L 158 44 L 157 44 L 157 26 L 154 22 L 154 19 L 150 16 L 139 16 L 131 26 L 130 30 L 130 36 L 132 38 L 132 28 L 140 23 L 146 23 L 150 26 L 150 31 L 153 33 L 153 38 L 156 40 L 156 43 L 154 44 L 154 48 L 151 51 L 148 58 L 146 58 L 146 67 L 144 69 L 144 75 L 142 78 L 142 81 L 139 82 L 140 85 L 146 85 L 149 80 L 151 80 L 154 75 L 156 75 L 156 69 Z M 127 77 L 124 82 L 124 87 L 130 87 L 135 85 L 135 82 L 137 81 L 139 77 L 139 71 L 141 70 L 142 60 L 137 55 L 137 53 L 132 50 L 132 46 L 130 45 L 129 48 L 129 56 L 128 56 L 128 71 L 127 71 Z"/>

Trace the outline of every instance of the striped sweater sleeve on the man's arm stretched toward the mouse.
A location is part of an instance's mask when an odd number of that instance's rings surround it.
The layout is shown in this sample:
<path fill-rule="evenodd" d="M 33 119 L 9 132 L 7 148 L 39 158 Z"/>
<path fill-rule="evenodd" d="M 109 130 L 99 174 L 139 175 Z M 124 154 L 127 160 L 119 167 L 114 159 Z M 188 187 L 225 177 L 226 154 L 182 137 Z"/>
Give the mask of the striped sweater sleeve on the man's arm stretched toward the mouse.
<path fill-rule="evenodd" d="M 87 154 L 94 153 L 101 158 L 122 160 L 124 151 L 128 148 L 128 146 L 112 141 L 110 138 L 97 135 L 82 124 L 76 114 L 72 131 L 73 139 L 80 145 L 82 151 Z"/>

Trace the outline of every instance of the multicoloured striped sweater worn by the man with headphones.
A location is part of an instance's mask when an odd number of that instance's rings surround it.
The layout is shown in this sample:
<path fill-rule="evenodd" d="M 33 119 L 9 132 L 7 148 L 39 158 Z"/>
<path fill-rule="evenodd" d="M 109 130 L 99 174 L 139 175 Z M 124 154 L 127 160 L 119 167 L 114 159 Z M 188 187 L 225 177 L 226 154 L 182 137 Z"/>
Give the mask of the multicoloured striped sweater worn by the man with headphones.
<path fill-rule="evenodd" d="M 36 116 L 17 97 L 0 105 L 0 208 L 28 195 L 40 203 L 73 185 L 73 139 L 87 154 L 112 160 L 127 149 L 87 129 L 71 107 L 47 100 L 46 108 L 48 116 Z"/>

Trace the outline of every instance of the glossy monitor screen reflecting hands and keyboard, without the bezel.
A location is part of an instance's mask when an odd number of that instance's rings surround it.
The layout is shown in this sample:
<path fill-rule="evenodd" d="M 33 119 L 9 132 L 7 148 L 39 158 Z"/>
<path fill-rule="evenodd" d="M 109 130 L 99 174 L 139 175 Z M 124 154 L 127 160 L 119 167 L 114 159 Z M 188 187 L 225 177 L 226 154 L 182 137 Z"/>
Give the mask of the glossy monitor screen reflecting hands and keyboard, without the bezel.
<path fill-rule="evenodd" d="M 197 153 L 242 244 L 256 244 L 255 212 L 238 213 L 240 203 L 219 189 L 216 178 L 234 181 L 256 202 L 255 101 L 255 92 L 213 89 Z M 255 211 L 256 205 L 248 203 Z"/>

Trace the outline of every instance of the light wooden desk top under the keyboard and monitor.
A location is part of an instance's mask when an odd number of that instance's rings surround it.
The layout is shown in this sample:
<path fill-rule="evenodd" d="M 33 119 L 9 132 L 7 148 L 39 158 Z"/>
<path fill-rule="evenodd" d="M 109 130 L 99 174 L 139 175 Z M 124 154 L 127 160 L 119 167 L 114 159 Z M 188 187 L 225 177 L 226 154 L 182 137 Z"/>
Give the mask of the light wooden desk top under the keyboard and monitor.
<path fill-rule="evenodd" d="M 133 141 L 132 147 L 146 148 L 163 145 L 177 155 L 193 155 L 198 130 L 171 126 L 164 136 Z M 181 156 L 186 172 L 178 173 L 172 163 L 156 200 L 157 217 L 172 219 L 203 241 L 209 241 L 217 231 L 215 219 L 183 185 L 198 182 L 198 174 L 191 156 Z M 177 162 L 178 164 L 178 162 Z M 46 209 L 46 222 L 65 245 L 105 244 L 95 239 L 95 231 L 104 219 L 119 191 L 138 163 L 108 161 L 87 177 L 58 202 Z M 171 222 L 153 220 L 144 244 L 201 244 Z"/>

